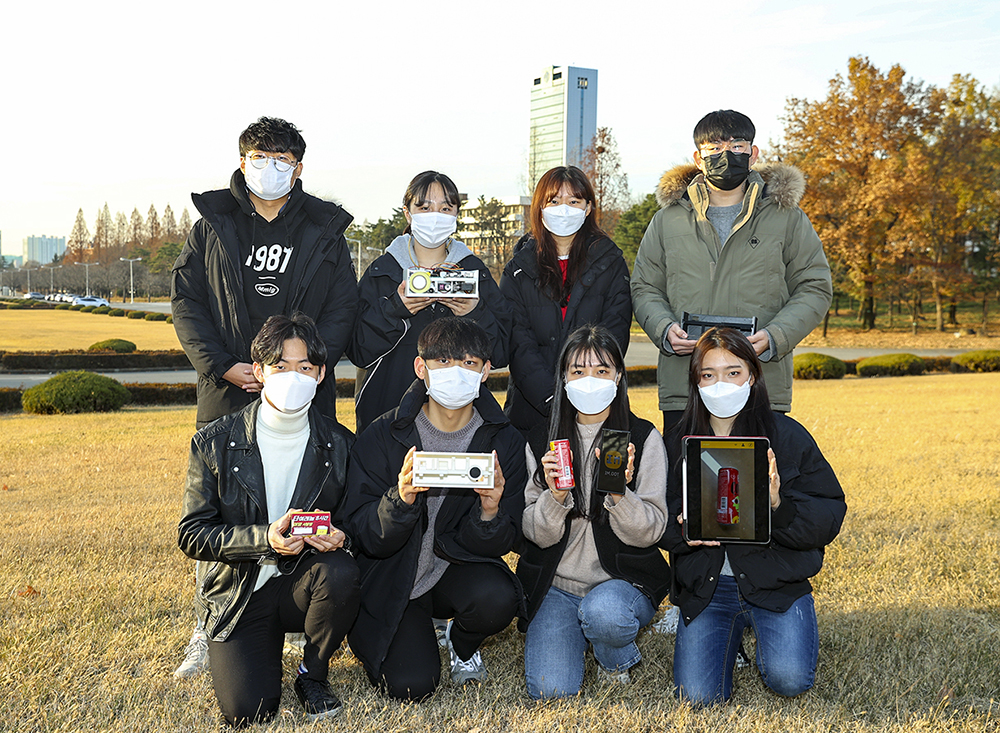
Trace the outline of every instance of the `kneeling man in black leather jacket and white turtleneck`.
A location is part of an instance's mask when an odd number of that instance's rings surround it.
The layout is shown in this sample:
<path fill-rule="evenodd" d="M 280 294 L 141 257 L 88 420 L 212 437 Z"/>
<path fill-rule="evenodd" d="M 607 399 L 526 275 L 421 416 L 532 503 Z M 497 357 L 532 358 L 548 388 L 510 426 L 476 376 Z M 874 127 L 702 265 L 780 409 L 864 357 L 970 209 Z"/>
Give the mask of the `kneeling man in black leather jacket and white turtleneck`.
<path fill-rule="evenodd" d="M 305 632 L 295 692 L 310 718 L 341 704 L 331 656 L 358 610 L 358 567 L 340 508 L 350 431 L 313 406 L 326 346 L 308 316 L 271 316 L 250 348 L 261 399 L 191 441 L 181 550 L 198 560 L 196 605 L 212 683 L 230 725 L 271 718 L 285 632 Z M 290 535 L 295 511 L 327 511 L 326 534 Z"/>

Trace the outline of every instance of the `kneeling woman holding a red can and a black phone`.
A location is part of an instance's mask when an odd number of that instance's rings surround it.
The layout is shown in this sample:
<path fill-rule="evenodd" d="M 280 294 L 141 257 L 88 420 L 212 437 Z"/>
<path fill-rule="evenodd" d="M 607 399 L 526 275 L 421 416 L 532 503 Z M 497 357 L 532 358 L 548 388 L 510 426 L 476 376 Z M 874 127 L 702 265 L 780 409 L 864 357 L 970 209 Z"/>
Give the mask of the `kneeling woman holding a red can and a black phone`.
<path fill-rule="evenodd" d="M 641 659 L 636 635 L 670 584 L 656 547 L 667 522 L 663 441 L 629 410 L 618 342 L 601 326 L 578 329 L 558 365 L 548 429 L 528 437 L 526 541 L 517 565 L 528 601 L 519 621 L 527 632 L 525 680 L 535 699 L 579 693 L 591 645 L 600 675 L 627 684 Z M 617 431 L 630 436 L 627 458 L 610 447 Z M 602 440 L 602 432 L 611 435 Z M 557 483 L 565 471 L 550 441 L 560 439 L 571 448 L 571 488 Z M 604 479 L 616 477 L 613 493 L 602 492 Z"/>

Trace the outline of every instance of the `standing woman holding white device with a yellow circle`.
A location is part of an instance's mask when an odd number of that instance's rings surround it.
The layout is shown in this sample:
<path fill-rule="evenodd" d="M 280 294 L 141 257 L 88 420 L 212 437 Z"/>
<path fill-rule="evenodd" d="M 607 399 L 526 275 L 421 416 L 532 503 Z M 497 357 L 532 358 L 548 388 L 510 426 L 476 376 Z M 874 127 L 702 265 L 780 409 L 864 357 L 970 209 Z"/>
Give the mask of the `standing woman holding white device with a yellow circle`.
<path fill-rule="evenodd" d="M 482 260 L 453 237 L 461 201 L 443 173 L 424 171 L 403 194 L 407 227 L 365 271 L 358 284 L 360 305 L 354 338 L 347 349 L 358 367 L 354 393 L 357 432 L 395 409 L 413 381 L 417 337 L 444 316 L 471 318 L 486 329 L 494 368 L 507 364 L 510 306 Z M 478 297 L 407 295 L 407 270 L 442 267 L 478 275 Z M 426 280 L 420 280 L 422 286 Z"/>

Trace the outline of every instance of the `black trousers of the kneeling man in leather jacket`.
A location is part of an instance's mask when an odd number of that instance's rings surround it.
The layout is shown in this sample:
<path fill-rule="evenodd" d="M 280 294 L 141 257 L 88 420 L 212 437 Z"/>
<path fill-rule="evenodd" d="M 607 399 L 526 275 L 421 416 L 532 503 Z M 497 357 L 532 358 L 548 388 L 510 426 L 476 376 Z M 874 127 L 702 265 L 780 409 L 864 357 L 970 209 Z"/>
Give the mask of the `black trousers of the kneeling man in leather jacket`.
<path fill-rule="evenodd" d="M 330 658 L 358 615 L 358 580 L 353 557 L 322 552 L 250 596 L 229 638 L 208 643 L 212 685 L 227 723 L 242 727 L 277 712 L 286 632 L 305 632 L 306 675 L 326 679 Z"/>

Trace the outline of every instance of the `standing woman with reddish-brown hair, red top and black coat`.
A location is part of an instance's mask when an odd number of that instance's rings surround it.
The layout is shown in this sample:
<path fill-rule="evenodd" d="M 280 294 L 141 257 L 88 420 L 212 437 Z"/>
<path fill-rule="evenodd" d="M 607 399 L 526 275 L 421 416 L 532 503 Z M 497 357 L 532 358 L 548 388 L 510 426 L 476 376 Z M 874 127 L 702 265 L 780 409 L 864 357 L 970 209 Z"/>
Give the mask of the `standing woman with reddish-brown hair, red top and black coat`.
<path fill-rule="evenodd" d="M 559 348 L 577 328 L 600 324 L 628 349 L 628 265 L 597 225 L 594 188 L 579 168 L 553 168 L 531 200 L 531 233 L 500 278 L 514 325 L 504 412 L 525 434 L 548 423 Z"/>

